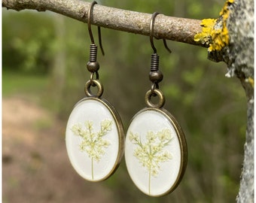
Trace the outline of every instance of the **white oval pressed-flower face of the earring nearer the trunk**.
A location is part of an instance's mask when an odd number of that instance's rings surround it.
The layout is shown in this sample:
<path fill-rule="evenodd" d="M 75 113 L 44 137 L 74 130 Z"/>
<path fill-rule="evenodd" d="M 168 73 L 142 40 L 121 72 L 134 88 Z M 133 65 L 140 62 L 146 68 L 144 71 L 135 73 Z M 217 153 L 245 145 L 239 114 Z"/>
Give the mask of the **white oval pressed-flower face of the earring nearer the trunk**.
<path fill-rule="evenodd" d="M 161 111 L 142 110 L 126 133 L 126 167 L 145 194 L 160 196 L 177 183 L 181 170 L 181 146 L 174 126 Z"/>

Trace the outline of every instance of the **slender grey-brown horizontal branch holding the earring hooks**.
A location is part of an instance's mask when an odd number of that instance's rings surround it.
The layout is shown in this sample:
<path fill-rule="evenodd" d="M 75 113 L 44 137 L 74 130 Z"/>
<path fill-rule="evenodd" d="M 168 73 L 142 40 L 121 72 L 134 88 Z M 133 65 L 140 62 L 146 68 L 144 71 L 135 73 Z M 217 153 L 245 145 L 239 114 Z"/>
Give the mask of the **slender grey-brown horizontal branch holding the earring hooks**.
<path fill-rule="evenodd" d="M 21 11 L 32 9 L 37 11 L 53 11 L 87 23 L 87 11 L 90 2 L 75 0 L 2 0 L 2 7 Z M 153 13 L 153 12 L 152 12 Z M 102 5 L 93 7 L 92 24 L 123 32 L 149 35 L 151 14 L 109 8 Z M 180 41 L 201 47 L 206 44 L 194 41 L 194 35 L 202 32 L 201 20 L 157 15 L 154 25 L 154 37 Z"/>

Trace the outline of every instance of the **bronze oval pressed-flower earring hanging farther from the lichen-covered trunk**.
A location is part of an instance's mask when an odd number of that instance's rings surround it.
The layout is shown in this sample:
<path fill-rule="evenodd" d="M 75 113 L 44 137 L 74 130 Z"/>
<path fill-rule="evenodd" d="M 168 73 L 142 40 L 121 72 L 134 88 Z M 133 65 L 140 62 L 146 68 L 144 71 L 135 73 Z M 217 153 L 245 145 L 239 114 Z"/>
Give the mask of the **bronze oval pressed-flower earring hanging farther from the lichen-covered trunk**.
<path fill-rule="evenodd" d="M 66 127 L 66 148 L 70 162 L 81 177 L 93 182 L 105 180 L 114 173 L 123 156 L 124 144 L 120 117 L 114 107 L 102 98 L 103 86 L 99 81 L 99 62 L 96 60 L 97 46 L 90 28 L 95 4 L 92 2 L 90 5 L 87 22 L 91 38 L 90 60 L 87 63 L 90 80 L 84 87 L 87 97 L 75 105 Z M 98 32 L 102 49 L 100 27 Z M 93 86 L 97 89 L 95 94 L 91 91 Z"/>

